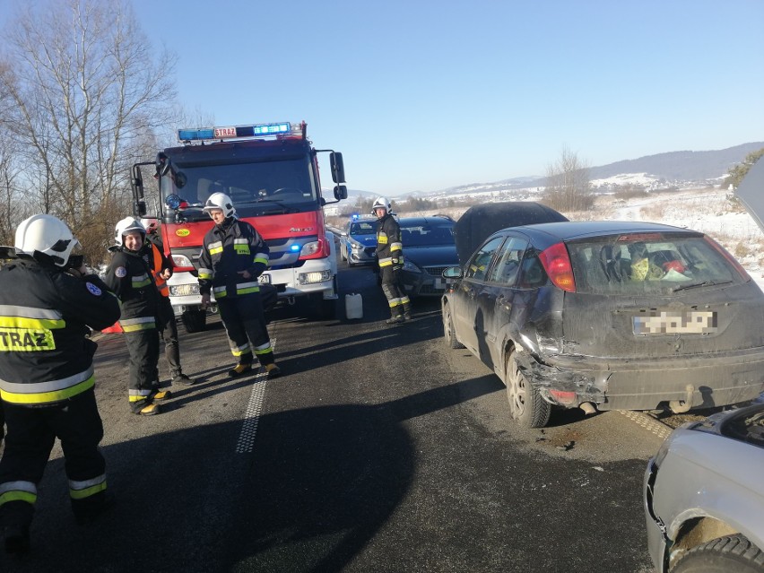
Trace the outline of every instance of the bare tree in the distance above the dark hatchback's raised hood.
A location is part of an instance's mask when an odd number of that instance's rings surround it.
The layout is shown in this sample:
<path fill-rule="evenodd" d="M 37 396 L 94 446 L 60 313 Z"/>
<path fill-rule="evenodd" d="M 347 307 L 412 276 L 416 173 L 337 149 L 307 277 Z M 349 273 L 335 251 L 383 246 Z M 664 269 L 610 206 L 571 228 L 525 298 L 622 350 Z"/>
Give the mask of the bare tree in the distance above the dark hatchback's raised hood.
<path fill-rule="evenodd" d="M 543 203 L 563 213 L 588 211 L 595 203 L 589 166 L 563 147 L 560 159 L 547 167 Z"/>

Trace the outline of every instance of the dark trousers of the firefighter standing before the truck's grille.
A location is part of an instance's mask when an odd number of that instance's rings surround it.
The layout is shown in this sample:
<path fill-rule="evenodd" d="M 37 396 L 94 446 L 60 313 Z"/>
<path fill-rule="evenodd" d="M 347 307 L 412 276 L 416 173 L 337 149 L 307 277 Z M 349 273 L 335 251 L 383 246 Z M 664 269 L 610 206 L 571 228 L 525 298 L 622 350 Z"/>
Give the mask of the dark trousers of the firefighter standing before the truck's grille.
<path fill-rule="evenodd" d="M 230 352 L 242 364 L 254 361 L 253 353 L 266 366 L 273 364 L 273 348 L 265 325 L 265 313 L 260 293 L 217 300 L 218 312 L 225 326 Z"/>

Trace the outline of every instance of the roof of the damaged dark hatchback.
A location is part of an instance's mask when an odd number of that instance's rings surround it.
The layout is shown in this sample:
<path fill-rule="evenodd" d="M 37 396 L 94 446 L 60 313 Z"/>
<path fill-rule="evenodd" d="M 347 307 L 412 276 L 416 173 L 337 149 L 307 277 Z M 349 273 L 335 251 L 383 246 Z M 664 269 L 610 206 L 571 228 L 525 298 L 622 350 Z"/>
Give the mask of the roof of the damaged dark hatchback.
<path fill-rule="evenodd" d="M 562 241 L 614 235 L 617 233 L 680 232 L 691 235 L 703 234 L 698 230 L 683 229 L 682 227 L 648 221 L 560 221 L 536 223 L 534 225 L 508 227 L 494 234 L 497 235 L 511 230 L 529 234 L 543 233 L 550 238 Z"/>

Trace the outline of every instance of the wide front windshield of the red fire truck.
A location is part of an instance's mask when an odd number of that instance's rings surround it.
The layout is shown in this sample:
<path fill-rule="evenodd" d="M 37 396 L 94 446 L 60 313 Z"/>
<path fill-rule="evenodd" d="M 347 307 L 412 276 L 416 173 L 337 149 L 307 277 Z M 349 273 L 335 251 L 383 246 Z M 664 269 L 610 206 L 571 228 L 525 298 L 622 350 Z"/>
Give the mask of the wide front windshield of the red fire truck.
<path fill-rule="evenodd" d="M 173 164 L 161 178 L 161 199 L 178 195 L 183 208 L 201 208 L 213 193 L 229 195 L 240 211 L 244 205 L 275 203 L 294 206 L 317 202 L 311 165 L 305 159 L 225 164 Z M 315 208 L 315 207 L 314 207 Z"/>

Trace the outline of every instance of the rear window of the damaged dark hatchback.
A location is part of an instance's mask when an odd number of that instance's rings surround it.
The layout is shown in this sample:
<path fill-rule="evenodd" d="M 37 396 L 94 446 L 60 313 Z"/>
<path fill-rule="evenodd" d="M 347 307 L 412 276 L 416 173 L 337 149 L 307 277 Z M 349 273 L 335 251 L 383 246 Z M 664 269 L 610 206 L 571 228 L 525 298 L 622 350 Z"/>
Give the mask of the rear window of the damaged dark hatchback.
<path fill-rule="evenodd" d="M 568 243 L 577 292 L 638 294 L 742 282 L 702 235 L 619 235 Z"/>

